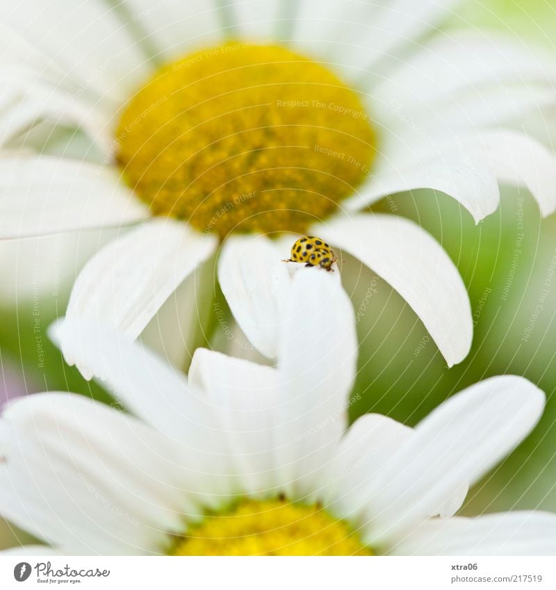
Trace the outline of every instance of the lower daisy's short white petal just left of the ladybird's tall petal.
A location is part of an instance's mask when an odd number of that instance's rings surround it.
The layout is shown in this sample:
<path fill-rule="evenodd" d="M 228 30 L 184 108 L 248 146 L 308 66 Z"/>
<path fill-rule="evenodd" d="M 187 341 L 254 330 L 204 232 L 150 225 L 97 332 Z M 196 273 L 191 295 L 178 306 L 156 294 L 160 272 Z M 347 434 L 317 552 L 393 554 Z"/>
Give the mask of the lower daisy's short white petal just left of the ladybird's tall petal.
<path fill-rule="evenodd" d="M 229 441 L 238 491 L 269 493 L 279 453 L 272 436 L 281 400 L 276 369 L 197 348 L 189 379 L 223 410 L 221 430 Z"/>

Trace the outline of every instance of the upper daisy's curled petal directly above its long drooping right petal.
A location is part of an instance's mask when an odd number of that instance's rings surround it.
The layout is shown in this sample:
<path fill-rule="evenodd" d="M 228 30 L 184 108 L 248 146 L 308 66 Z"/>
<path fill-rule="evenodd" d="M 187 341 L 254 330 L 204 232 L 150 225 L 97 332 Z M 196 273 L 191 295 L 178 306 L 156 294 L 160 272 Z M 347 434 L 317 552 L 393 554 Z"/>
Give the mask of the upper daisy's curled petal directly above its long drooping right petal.
<path fill-rule="evenodd" d="M 422 136 L 422 133 L 425 133 Z M 398 134 L 398 135 L 396 135 Z M 432 188 L 457 200 L 479 222 L 496 211 L 500 190 L 492 167 L 473 147 L 455 136 L 429 136 L 404 119 L 381 147 L 381 159 L 359 195 L 348 199 L 348 211 L 373 204 L 396 192 Z"/>

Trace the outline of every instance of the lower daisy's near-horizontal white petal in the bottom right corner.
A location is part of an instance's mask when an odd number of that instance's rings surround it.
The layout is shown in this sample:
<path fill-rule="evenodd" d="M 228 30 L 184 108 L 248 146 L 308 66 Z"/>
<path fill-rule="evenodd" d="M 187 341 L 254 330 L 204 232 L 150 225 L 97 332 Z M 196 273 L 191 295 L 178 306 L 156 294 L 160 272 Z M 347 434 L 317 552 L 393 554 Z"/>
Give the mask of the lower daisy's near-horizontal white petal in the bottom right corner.
<path fill-rule="evenodd" d="M 514 511 L 434 519 L 394 546 L 394 555 L 556 555 L 556 515 Z"/>

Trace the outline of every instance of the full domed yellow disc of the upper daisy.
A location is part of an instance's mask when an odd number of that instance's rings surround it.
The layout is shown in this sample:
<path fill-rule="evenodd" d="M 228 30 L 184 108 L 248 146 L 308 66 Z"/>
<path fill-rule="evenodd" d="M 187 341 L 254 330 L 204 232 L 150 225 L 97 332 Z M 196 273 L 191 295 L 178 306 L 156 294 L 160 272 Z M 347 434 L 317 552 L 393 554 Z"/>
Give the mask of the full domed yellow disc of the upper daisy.
<path fill-rule="evenodd" d="M 220 237 L 306 233 L 375 154 L 359 96 L 277 45 L 231 42 L 166 65 L 116 133 L 124 179 L 153 213 Z"/>

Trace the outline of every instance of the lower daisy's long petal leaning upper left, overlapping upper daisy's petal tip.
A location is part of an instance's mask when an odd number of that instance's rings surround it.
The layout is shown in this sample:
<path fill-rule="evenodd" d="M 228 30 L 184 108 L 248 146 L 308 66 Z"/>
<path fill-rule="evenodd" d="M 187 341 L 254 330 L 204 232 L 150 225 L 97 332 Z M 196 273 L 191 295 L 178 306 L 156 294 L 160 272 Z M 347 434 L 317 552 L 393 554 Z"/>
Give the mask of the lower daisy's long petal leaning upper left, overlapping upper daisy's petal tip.
<path fill-rule="evenodd" d="M 195 473 L 184 485 L 199 501 L 225 500 L 231 479 L 218 408 L 190 387 L 179 370 L 95 322 L 60 320 L 49 334 L 56 342 L 79 343 L 73 348 L 76 363 L 97 376 L 116 402 L 175 441 L 174 461 Z"/>

